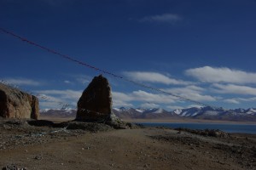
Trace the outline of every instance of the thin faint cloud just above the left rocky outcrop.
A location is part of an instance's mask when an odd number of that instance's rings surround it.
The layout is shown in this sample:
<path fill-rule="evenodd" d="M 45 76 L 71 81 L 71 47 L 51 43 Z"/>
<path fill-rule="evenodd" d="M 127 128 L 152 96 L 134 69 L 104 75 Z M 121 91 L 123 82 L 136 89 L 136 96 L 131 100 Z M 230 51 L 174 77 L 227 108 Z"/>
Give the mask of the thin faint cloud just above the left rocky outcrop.
<path fill-rule="evenodd" d="M 6 78 L 3 82 L 15 86 L 40 86 L 43 84 L 42 82 L 37 82 L 27 78 Z"/>

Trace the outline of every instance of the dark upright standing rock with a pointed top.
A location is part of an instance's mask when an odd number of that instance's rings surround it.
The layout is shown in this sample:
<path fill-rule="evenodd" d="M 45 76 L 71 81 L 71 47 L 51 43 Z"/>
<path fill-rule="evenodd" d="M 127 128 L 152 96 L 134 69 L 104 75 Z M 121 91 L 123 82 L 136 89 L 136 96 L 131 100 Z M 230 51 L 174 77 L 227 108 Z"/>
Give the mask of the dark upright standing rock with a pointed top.
<path fill-rule="evenodd" d="M 112 95 L 108 79 L 102 75 L 94 77 L 79 99 L 76 120 L 104 122 L 112 115 Z"/>

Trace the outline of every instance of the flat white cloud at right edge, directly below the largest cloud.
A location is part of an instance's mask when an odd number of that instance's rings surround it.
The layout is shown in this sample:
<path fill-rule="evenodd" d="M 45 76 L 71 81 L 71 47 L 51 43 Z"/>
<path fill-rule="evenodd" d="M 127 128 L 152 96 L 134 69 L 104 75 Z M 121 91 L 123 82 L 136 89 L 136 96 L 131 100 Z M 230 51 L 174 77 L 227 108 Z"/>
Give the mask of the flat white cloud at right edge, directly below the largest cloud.
<path fill-rule="evenodd" d="M 256 95 L 256 88 L 247 86 L 238 86 L 235 84 L 212 84 L 212 90 L 219 94 L 244 94 L 244 95 Z"/>

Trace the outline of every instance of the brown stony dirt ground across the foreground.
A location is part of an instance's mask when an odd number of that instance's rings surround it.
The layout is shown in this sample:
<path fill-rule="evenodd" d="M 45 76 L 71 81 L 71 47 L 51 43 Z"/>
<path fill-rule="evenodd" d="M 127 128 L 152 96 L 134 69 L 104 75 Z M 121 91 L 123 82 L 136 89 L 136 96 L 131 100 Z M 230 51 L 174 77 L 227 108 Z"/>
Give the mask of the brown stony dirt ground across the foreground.
<path fill-rule="evenodd" d="M 0 123 L 0 169 L 256 169 L 256 135 L 216 138 L 165 128 L 104 132 Z M 11 168 L 9 168 L 11 169 Z"/>

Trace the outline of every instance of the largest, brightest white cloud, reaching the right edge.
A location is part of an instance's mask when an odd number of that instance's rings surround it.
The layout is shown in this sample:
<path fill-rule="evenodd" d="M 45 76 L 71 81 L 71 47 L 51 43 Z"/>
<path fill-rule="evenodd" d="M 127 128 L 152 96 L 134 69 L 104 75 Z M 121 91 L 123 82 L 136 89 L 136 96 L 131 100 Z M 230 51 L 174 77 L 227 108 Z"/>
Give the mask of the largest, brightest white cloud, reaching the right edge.
<path fill-rule="evenodd" d="M 256 73 L 232 70 L 227 67 L 204 66 L 189 69 L 185 73 L 201 82 L 256 83 Z"/>

